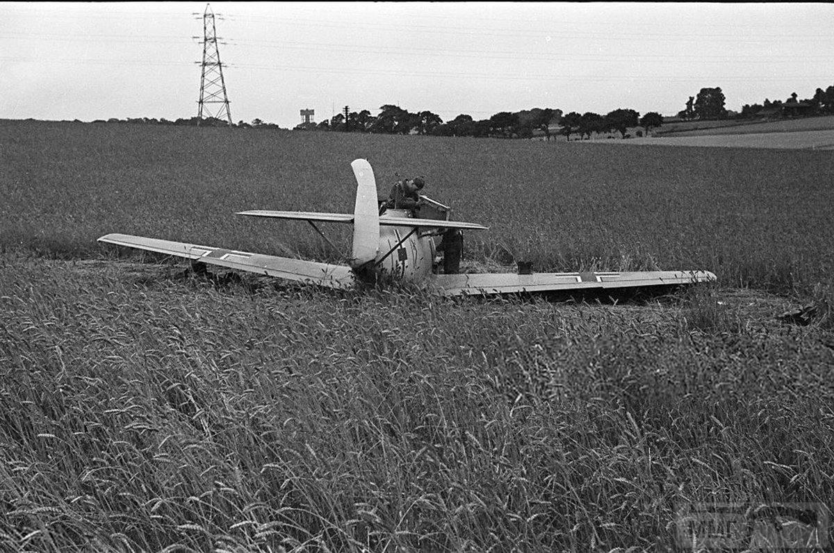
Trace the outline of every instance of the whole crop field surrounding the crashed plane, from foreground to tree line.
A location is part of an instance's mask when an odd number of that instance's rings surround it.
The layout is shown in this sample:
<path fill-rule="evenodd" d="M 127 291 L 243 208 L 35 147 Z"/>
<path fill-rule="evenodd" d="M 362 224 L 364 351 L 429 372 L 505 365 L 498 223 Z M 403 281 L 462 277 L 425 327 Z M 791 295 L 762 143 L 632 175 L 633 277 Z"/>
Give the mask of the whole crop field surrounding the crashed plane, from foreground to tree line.
<path fill-rule="evenodd" d="M 425 174 L 465 256 L 708 269 L 630 305 L 213 284 L 108 232 L 339 259 Z M 0 549 L 669 550 L 701 501 L 834 497 L 830 154 L 0 125 Z M 335 242 L 348 247 L 345 229 Z M 749 287 L 749 288 L 748 288 Z M 810 325 L 776 319 L 813 303 Z M 826 309 L 828 309 L 826 311 Z"/>

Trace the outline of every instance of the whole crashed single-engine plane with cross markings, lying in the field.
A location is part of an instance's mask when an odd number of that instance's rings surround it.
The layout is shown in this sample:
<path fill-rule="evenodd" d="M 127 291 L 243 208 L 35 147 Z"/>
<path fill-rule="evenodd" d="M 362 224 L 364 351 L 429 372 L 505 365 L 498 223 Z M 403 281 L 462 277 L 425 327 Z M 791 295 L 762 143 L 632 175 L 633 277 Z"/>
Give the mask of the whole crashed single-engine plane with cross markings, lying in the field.
<path fill-rule="evenodd" d="M 448 269 L 455 268 L 459 259 L 448 259 L 448 256 L 460 256 L 460 251 L 445 251 L 446 259 L 440 264 L 440 244 L 436 244 L 435 240 L 450 230 L 460 232 L 487 228 L 480 224 L 451 221 L 448 207 L 425 197 L 422 197 L 425 211 L 430 218 L 422 218 L 424 209 L 420 209 L 420 218 L 405 209 L 387 209 L 379 214 L 376 181 L 370 163 L 365 159 L 356 159 L 351 167 L 358 183 L 353 214 L 265 210 L 239 213 L 251 217 L 305 220 L 316 230 L 319 230 L 315 226 L 317 222 L 353 224 L 353 248 L 346 265 L 249 254 L 128 234 L 107 234 L 98 241 L 178 256 L 190 259 L 193 264 L 219 265 L 334 289 L 350 289 L 359 284 L 373 283 L 382 275 L 415 283 L 425 282 L 444 295 L 594 289 L 613 292 L 616 289 L 674 286 L 716 279 L 714 274 L 707 271 L 533 273 L 529 265 L 525 264 L 519 264 L 519 270 L 515 273 L 450 273 Z"/>

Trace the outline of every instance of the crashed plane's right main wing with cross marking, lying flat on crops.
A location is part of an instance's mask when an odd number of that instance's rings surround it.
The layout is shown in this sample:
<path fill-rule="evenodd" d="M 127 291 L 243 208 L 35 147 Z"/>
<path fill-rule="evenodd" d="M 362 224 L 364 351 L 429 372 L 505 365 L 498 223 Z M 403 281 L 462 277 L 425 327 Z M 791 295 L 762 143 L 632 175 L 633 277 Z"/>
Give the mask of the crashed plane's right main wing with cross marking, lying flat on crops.
<path fill-rule="evenodd" d="M 636 273 L 480 273 L 436 274 L 432 281 L 444 295 L 513 294 L 583 289 L 694 284 L 716 280 L 708 271 L 643 271 Z"/>

